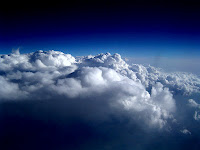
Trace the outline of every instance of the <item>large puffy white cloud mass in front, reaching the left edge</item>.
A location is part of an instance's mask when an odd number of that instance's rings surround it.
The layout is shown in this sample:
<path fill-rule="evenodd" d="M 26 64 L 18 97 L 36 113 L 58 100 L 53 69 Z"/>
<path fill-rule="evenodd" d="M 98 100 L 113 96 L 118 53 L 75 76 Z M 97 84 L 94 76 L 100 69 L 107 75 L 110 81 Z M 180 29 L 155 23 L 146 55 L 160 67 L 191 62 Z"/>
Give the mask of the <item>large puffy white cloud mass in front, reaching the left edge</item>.
<path fill-rule="evenodd" d="M 134 120 L 141 119 L 150 126 L 162 128 L 166 119 L 173 118 L 176 106 L 168 88 L 157 83 L 150 94 L 139 80 L 125 75 L 130 72 L 132 77 L 134 72 L 119 54 L 106 53 L 76 61 L 62 52 L 37 51 L 2 55 L 1 62 L 1 70 L 5 72 L 2 84 L 6 86 L 1 90 L 1 99 L 12 99 L 12 96 L 14 99 L 49 99 L 42 92 L 63 98 L 87 96 L 90 99 L 100 95 L 111 111 L 122 109 L 134 116 Z M 108 91 L 112 94 L 109 97 L 106 96 Z"/>

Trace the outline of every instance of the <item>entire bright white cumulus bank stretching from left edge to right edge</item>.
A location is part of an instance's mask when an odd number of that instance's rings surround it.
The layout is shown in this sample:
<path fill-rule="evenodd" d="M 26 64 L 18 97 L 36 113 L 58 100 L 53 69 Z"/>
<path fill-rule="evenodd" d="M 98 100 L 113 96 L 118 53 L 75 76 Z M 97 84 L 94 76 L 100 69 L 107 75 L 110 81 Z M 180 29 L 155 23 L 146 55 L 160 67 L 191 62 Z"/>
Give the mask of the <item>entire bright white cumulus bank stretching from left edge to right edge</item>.
<path fill-rule="evenodd" d="M 199 92 L 200 87 L 195 75 L 129 65 L 119 54 L 110 53 L 74 58 L 58 51 L 15 52 L 1 55 L 0 73 L 2 100 L 83 99 L 76 105 L 91 102 L 84 113 L 92 114 L 83 117 L 125 113 L 135 123 L 159 128 L 174 120 L 176 102 L 172 92 L 191 94 Z M 103 105 L 98 106 L 99 101 Z M 98 112 L 92 112 L 94 108 Z"/>

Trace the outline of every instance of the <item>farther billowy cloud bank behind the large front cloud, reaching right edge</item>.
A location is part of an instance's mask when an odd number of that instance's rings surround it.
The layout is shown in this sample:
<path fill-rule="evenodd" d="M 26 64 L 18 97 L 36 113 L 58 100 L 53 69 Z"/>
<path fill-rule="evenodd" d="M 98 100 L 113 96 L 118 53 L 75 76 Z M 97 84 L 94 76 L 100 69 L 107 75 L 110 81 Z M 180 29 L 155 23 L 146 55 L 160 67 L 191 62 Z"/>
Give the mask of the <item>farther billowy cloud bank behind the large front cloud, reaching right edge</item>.
<path fill-rule="evenodd" d="M 200 92 L 200 78 L 197 75 L 185 72 L 166 73 L 161 69 L 140 64 L 127 64 L 119 54 L 99 54 L 97 56 L 86 56 L 78 59 L 84 66 L 107 67 L 118 73 L 141 82 L 146 88 L 153 86 L 156 82 L 162 83 L 171 91 L 190 95 Z"/>

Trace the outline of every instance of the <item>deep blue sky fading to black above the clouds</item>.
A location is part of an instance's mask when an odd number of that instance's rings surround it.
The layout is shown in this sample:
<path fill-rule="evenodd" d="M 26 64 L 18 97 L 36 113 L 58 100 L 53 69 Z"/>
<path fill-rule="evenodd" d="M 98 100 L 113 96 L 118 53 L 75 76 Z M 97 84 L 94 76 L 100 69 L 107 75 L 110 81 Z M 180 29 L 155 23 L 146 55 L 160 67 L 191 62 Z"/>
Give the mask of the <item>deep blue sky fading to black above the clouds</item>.
<path fill-rule="evenodd" d="M 0 52 L 199 57 L 199 8 L 196 1 L 16 2 L 1 10 Z"/>

